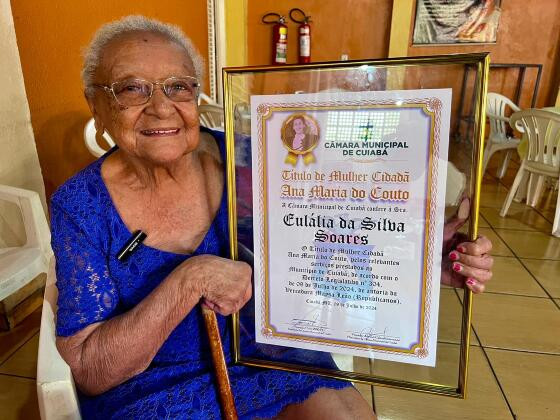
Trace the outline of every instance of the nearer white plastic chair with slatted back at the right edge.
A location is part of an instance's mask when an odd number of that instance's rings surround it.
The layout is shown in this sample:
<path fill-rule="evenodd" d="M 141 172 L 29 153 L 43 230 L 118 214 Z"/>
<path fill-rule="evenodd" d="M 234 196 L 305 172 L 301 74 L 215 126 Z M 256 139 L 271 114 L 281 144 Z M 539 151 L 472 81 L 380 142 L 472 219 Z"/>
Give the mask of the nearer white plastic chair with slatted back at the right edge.
<path fill-rule="evenodd" d="M 521 161 L 521 166 L 513 181 L 500 216 L 505 217 L 515 193 L 528 175 L 537 178 L 533 190 L 530 181 L 528 190 L 531 191 L 527 199 L 530 206 L 536 206 L 542 192 L 545 177 L 560 179 L 560 114 L 540 109 L 526 109 L 513 114 L 510 118 L 512 128 L 522 131 L 527 136 L 527 156 Z M 556 212 L 552 224 L 552 234 L 560 237 L 560 194 L 556 203 Z"/>

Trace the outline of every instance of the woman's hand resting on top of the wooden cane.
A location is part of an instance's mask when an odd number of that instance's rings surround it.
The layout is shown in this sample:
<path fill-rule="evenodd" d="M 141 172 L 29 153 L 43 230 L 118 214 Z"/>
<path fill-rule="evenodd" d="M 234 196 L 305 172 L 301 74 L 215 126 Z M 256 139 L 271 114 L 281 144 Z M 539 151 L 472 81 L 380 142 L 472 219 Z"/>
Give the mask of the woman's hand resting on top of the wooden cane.
<path fill-rule="evenodd" d="M 197 255 L 181 265 L 204 305 L 221 315 L 239 311 L 251 299 L 251 266 L 215 255 Z"/>

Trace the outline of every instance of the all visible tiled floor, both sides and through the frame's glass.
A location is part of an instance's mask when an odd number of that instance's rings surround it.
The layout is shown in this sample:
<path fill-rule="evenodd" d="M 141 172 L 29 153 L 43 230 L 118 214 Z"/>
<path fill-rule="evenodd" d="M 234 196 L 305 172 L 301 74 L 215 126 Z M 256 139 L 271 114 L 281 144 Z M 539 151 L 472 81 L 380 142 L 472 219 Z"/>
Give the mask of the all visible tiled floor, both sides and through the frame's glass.
<path fill-rule="evenodd" d="M 499 156 L 498 156 L 499 157 Z M 499 210 L 515 175 L 484 177 L 480 233 L 491 238 L 494 278 L 474 300 L 468 398 L 374 388 L 380 419 L 558 419 L 560 418 L 560 239 L 550 235 L 556 197 L 536 209 L 513 203 L 507 218 Z M 439 383 L 456 381 L 460 295 L 441 293 L 438 361 L 425 370 L 375 362 L 376 373 Z M 0 333 L 0 418 L 39 417 L 35 391 L 40 313 L 9 334 Z M 403 367 L 404 366 L 404 367 Z M 371 388 L 358 385 L 372 402 Z"/>

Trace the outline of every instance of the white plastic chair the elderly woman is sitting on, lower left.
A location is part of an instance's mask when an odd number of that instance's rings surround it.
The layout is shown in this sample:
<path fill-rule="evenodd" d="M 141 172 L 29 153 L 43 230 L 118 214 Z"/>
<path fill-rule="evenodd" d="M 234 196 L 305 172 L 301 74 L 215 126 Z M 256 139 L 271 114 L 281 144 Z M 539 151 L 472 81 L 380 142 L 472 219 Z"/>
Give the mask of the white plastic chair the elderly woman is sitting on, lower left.
<path fill-rule="evenodd" d="M 79 420 L 80 409 L 70 367 L 56 348 L 55 315 L 58 290 L 51 258 L 45 286 L 45 300 L 39 333 L 37 397 L 42 420 Z"/>

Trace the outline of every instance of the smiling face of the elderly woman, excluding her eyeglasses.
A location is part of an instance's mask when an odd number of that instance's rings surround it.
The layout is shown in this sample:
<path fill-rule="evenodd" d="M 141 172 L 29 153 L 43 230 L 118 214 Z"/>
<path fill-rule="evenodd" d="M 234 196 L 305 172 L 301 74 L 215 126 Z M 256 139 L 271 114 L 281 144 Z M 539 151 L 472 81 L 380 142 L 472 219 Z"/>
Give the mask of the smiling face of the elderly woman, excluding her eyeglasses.
<path fill-rule="evenodd" d="M 105 48 L 95 83 L 111 85 L 128 78 L 155 82 L 172 76 L 194 77 L 185 51 L 161 36 L 142 32 L 118 38 Z M 195 100 L 173 102 L 161 85 L 154 86 L 144 105 L 123 107 L 102 89 L 96 89 L 88 103 L 98 126 L 109 132 L 123 152 L 136 158 L 165 165 L 198 146 Z"/>

